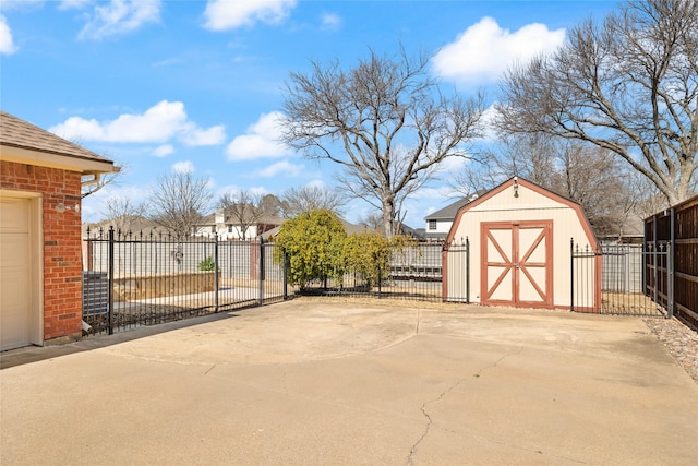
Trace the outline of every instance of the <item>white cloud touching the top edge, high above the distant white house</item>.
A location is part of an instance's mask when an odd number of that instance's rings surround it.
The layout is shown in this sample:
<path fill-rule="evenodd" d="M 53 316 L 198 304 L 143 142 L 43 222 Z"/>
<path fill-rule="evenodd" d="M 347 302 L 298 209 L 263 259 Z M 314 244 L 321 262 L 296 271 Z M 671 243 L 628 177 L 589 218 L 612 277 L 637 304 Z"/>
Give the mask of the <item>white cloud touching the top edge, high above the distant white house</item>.
<path fill-rule="evenodd" d="M 253 26 L 257 22 L 279 24 L 294 7 L 296 0 L 209 0 L 204 11 L 204 27 L 226 31 Z"/>

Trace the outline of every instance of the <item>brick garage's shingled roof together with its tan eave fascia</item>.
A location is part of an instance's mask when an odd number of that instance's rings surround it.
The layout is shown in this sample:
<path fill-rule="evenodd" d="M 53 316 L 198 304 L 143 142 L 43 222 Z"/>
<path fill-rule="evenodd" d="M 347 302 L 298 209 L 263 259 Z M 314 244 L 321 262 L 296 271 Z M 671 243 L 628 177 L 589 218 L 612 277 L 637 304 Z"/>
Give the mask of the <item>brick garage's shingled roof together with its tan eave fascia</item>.
<path fill-rule="evenodd" d="M 0 110 L 2 159 L 55 166 L 85 174 L 111 172 L 113 162 Z"/>

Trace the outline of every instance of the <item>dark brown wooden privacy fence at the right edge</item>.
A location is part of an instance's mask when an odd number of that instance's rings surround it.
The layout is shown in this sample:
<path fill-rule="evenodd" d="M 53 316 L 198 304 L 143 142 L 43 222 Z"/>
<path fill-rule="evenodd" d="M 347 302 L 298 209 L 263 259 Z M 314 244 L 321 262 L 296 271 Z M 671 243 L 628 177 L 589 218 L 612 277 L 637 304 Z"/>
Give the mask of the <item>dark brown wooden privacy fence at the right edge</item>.
<path fill-rule="evenodd" d="M 669 244 L 672 254 L 665 267 L 658 267 L 659 283 L 671 283 L 658 299 L 670 315 L 698 326 L 698 196 L 645 220 L 646 247 Z M 650 264 L 646 265 L 646 268 Z M 647 268 L 646 273 L 649 273 Z M 648 289 L 649 292 L 654 290 Z"/>

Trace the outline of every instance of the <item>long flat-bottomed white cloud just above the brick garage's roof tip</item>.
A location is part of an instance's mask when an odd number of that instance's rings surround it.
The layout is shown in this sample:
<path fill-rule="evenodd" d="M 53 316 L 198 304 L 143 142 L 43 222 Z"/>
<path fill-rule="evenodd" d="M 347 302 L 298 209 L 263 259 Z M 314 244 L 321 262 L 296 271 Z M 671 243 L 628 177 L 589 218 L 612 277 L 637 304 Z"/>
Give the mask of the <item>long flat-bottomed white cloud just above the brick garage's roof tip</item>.
<path fill-rule="evenodd" d="M 69 140 L 118 143 L 165 143 L 173 138 L 186 145 L 216 145 L 225 141 L 222 126 L 201 129 L 191 121 L 181 101 L 161 100 L 142 115 L 123 113 L 99 122 L 70 117 L 49 131 Z"/>

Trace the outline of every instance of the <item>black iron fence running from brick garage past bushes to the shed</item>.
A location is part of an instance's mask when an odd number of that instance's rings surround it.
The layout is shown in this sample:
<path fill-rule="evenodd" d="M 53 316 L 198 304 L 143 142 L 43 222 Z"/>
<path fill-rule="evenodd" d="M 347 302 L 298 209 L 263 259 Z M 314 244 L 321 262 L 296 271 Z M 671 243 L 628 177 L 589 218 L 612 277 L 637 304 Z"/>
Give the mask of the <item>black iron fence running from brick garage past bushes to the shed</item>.
<path fill-rule="evenodd" d="M 302 294 L 442 301 L 443 251 L 441 243 L 395 248 L 376 283 L 347 271 L 340 280 L 306 284 Z M 454 246 L 452 262 L 467 264 L 466 251 Z M 288 284 L 284 251 L 274 242 L 109 228 L 87 232 L 83 258 L 83 320 L 89 334 L 261 306 L 301 292 Z"/>

